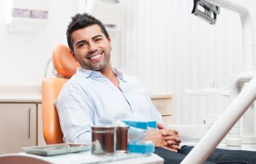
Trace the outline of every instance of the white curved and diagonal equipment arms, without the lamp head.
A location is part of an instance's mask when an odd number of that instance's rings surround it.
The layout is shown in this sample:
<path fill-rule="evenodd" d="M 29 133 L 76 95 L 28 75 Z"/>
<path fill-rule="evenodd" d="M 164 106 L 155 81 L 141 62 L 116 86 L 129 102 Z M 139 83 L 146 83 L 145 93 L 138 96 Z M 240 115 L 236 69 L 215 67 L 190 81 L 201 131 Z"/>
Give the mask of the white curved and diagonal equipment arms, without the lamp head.
<path fill-rule="evenodd" d="M 246 85 L 244 90 L 238 94 L 238 87 L 233 84 L 230 93 L 238 95 L 227 107 L 226 111 L 219 117 L 219 120 L 212 126 L 199 143 L 189 152 L 189 155 L 184 158 L 181 164 L 200 164 L 204 163 L 214 148 L 217 147 L 222 138 L 228 131 L 236 124 L 239 118 L 246 112 L 256 98 L 256 77 L 253 66 L 254 55 L 254 33 L 252 17 L 249 10 L 243 5 L 238 4 L 236 1 L 231 0 L 207 0 L 209 3 L 215 4 L 219 7 L 230 9 L 237 12 L 241 19 L 242 34 L 243 34 L 243 71 L 251 71 L 249 74 L 238 74 L 236 77 L 236 84 L 242 82 L 247 77 L 253 77 L 252 80 Z M 233 97 L 234 95 L 230 95 Z"/>

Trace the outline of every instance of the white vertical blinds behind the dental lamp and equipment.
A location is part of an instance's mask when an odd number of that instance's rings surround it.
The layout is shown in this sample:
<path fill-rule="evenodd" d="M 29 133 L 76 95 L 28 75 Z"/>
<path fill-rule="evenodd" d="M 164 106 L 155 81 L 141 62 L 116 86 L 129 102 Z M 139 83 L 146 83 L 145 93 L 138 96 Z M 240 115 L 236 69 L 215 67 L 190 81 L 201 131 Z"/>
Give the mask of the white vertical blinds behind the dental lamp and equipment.
<path fill-rule="evenodd" d="M 256 2 L 244 3 L 256 20 Z M 172 92 L 176 124 L 203 123 L 228 104 L 222 96 L 187 95 L 185 88 L 208 87 L 211 81 L 228 89 L 230 77 L 241 71 L 238 15 L 221 9 L 211 26 L 192 15 L 192 7 L 192 0 L 129 0 L 123 5 L 121 69 L 151 92 Z"/>

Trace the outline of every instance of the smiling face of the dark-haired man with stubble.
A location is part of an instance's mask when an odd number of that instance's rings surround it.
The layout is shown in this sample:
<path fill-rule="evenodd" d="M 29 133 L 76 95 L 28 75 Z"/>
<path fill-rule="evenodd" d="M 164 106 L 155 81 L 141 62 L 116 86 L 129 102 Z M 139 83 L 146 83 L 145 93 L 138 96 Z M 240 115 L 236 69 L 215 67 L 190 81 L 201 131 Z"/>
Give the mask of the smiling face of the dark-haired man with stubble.
<path fill-rule="evenodd" d="M 84 69 L 104 71 L 110 66 L 110 38 L 107 39 L 98 25 L 79 29 L 72 33 L 72 55 Z"/>

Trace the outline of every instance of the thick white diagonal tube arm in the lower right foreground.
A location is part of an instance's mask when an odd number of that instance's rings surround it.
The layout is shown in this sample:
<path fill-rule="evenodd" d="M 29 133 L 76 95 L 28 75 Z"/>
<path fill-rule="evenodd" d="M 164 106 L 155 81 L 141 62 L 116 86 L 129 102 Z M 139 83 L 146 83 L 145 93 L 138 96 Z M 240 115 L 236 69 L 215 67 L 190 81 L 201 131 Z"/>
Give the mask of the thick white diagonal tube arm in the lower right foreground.
<path fill-rule="evenodd" d="M 236 124 L 237 120 L 246 112 L 249 106 L 256 99 L 256 77 L 241 91 L 236 99 L 227 107 L 227 110 L 219 117 L 219 120 L 212 126 L 199 143 L 184 158 L 181 164 L 200 164 L 204 163 L 207 158 L 217 147 L 222 138 Z"/>

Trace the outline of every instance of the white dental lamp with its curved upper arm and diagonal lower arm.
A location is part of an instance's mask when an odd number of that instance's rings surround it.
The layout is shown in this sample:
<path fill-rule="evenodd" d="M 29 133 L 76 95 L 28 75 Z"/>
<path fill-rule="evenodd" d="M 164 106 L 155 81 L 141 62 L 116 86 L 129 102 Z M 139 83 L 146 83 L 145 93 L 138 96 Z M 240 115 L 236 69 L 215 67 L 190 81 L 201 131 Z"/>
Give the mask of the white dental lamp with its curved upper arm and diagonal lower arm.
<path fill-rule="evenodd" d="M 242 72 L 233 80 L 230 89 L 230 105 L 181 164 L 204 163 L 211 155 L 211 152 L 214 151 L 214 148 L 222 141 L 222 138 L 225 137 L 256 99 L 256 71 L 254 71 L 253 63 L 255 43 L 252 17 L 249 9 L 241 2 L 238 3 L 233 0 L 194 0 L 192 14 L 214 25 L 217 15 L 219 15 L 219 7 L 229 9 L 240 16 L 243 39 Z M 244 82 L 249 83 L 240 92 L 240 86 Z M 239 139 L 233 139 L 232 141 L 233 144 L 239 144 L 238 142 Z"/>

